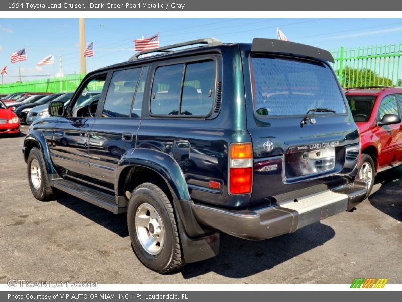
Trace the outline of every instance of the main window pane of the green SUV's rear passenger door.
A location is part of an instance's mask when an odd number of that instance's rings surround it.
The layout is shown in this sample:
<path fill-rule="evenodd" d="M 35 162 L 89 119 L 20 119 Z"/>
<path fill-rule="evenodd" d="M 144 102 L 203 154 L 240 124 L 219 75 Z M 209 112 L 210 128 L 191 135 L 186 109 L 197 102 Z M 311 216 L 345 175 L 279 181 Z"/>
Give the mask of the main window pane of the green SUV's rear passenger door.
<path fill-rule="evenodd" d="M 113 72 L 102 117 L 129 117 L 141 68 Z"/>

